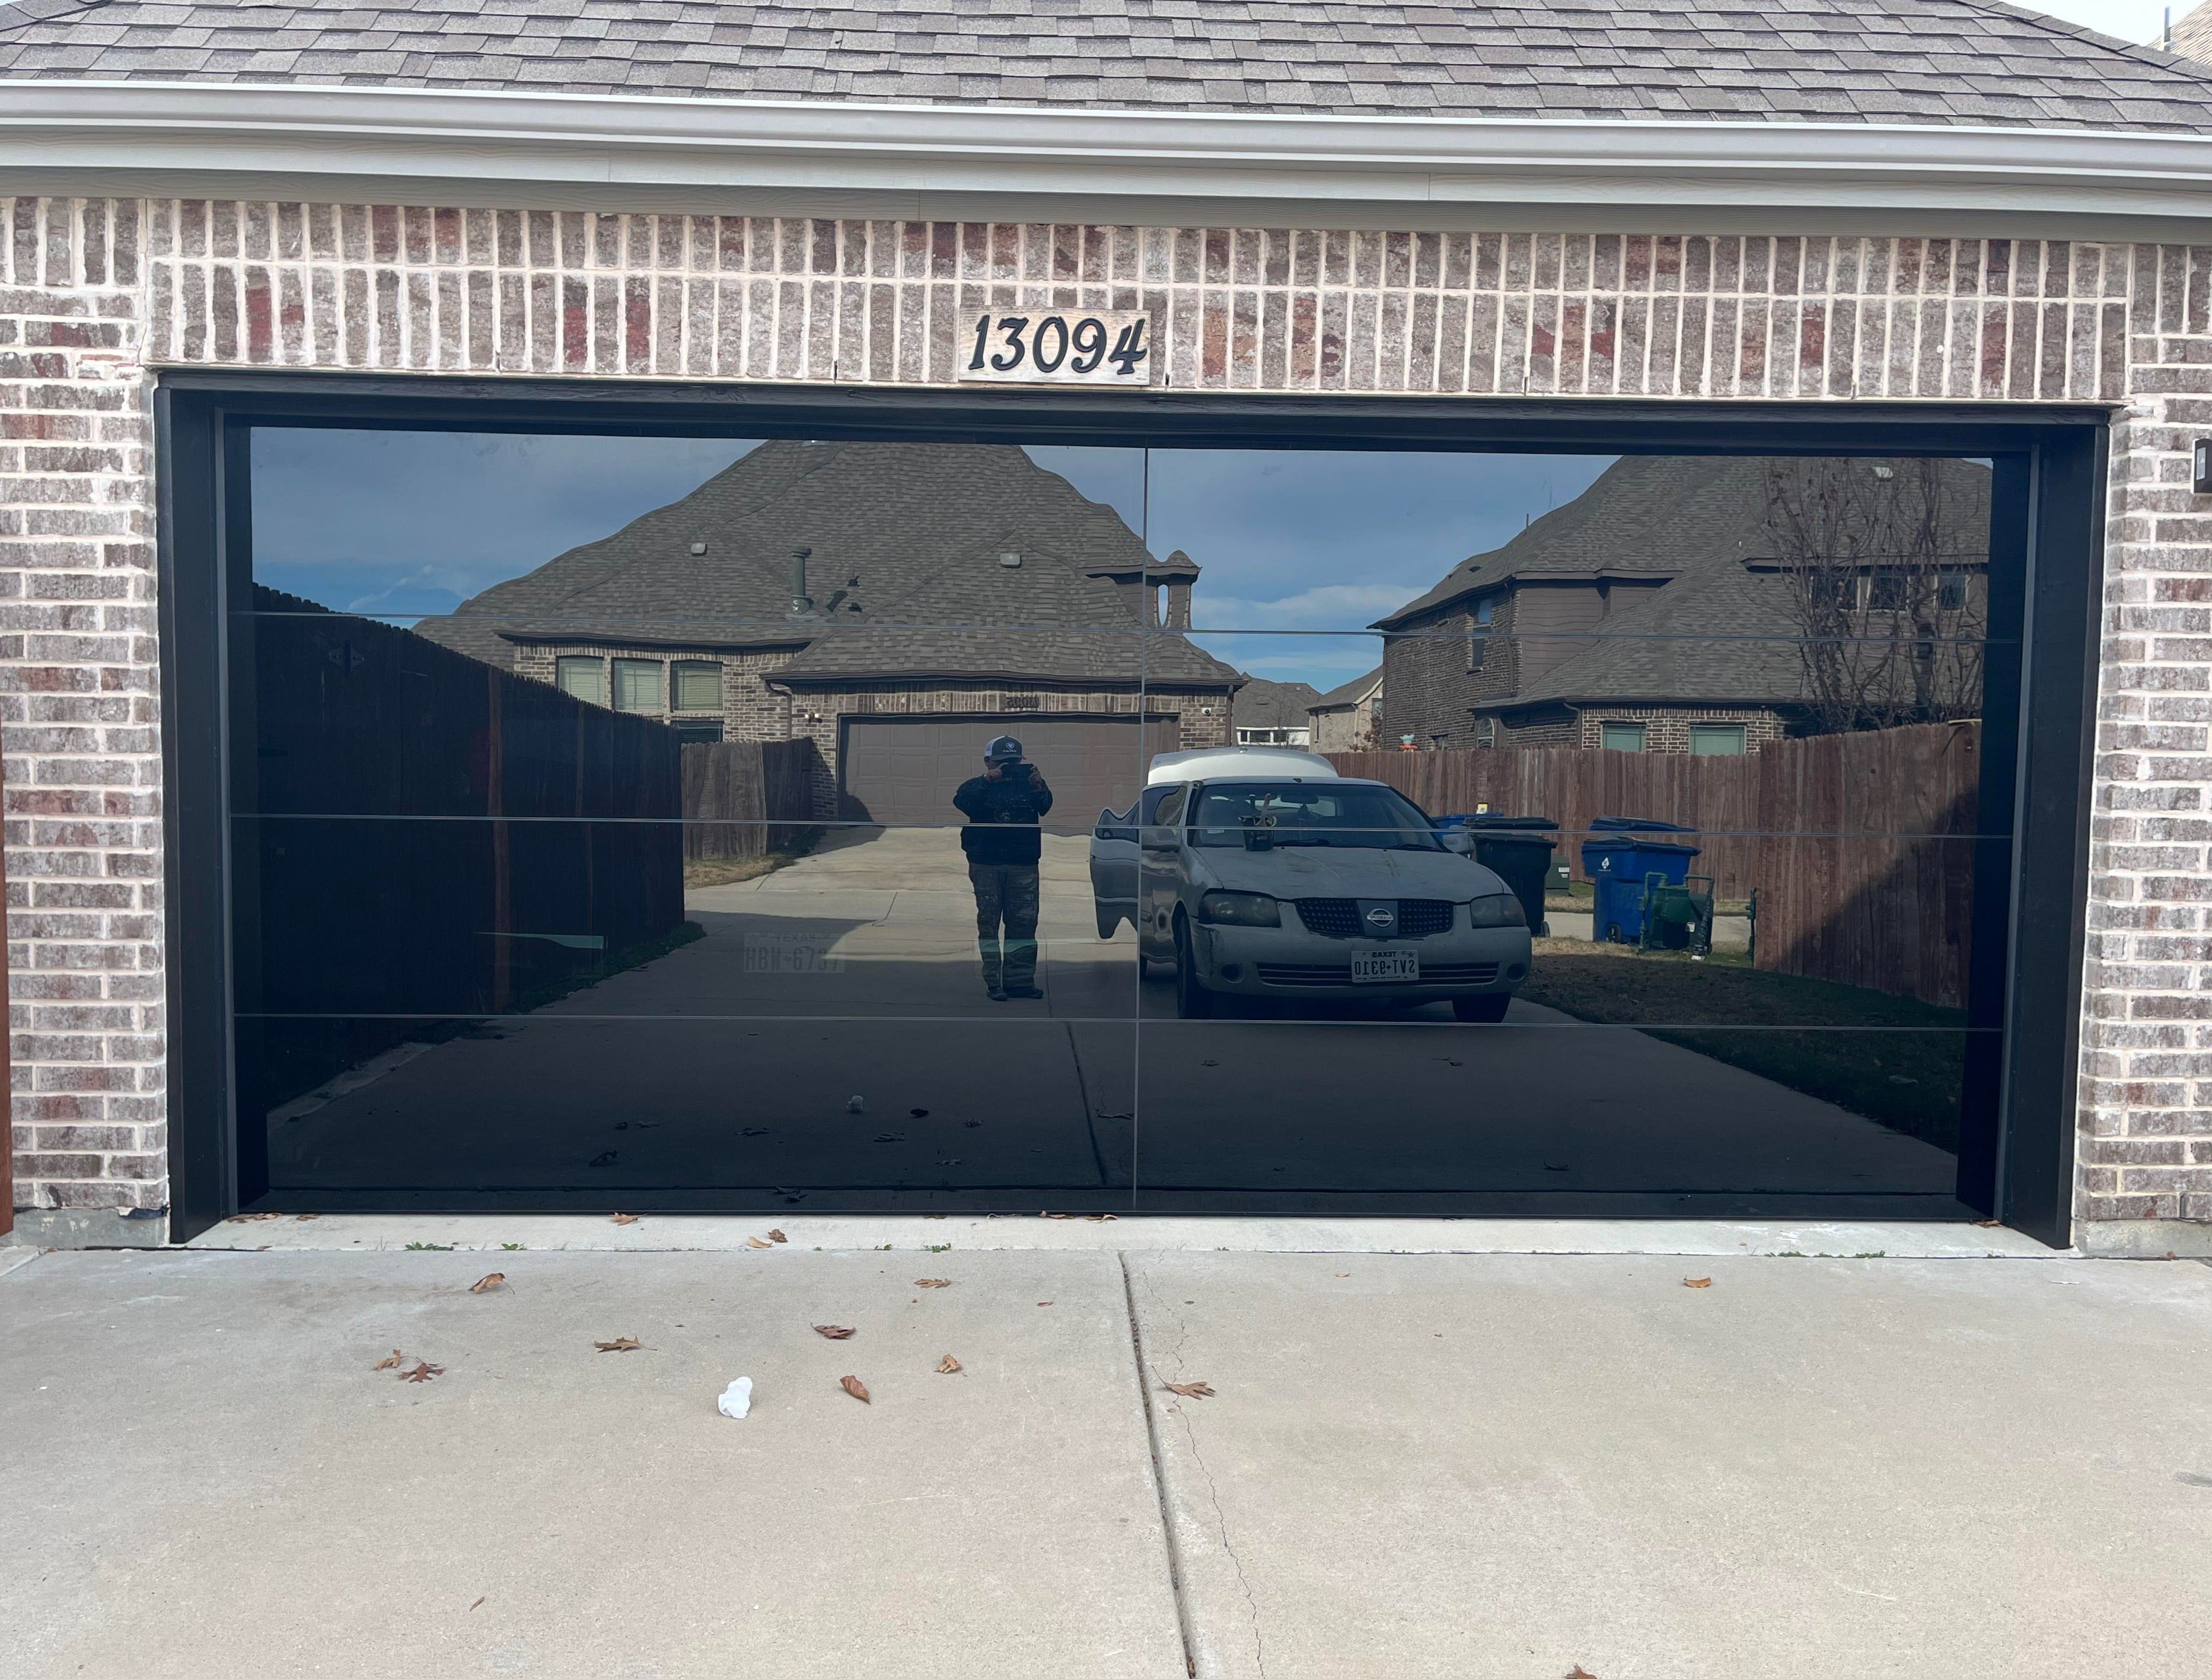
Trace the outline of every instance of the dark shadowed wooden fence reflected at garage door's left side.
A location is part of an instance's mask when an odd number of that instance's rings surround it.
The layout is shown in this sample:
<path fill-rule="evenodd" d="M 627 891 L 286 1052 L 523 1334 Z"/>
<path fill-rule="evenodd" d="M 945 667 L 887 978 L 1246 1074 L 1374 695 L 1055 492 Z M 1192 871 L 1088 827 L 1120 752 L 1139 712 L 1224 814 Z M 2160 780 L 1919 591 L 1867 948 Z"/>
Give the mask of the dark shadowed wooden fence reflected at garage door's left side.
<path fill-rule="evenodd" d="M 681 927 L 675 730 L 292 595 L 254 606 L 232 630 L 254 677 L 232 783 L 241 1099 L 531 1007 Z"/>

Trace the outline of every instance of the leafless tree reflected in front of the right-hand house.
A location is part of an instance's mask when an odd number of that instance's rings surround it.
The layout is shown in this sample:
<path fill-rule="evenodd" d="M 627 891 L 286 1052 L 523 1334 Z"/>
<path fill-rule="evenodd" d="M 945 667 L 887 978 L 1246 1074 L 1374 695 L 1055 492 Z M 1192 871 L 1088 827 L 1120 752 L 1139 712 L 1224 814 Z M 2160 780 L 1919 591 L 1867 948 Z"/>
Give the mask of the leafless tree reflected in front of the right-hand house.
<path fill-rule="evenodd" d="M 1980 717 L 1984 480 L 1947 460 L 1767 462 L 1767 529 L 1818 732 Z"/>

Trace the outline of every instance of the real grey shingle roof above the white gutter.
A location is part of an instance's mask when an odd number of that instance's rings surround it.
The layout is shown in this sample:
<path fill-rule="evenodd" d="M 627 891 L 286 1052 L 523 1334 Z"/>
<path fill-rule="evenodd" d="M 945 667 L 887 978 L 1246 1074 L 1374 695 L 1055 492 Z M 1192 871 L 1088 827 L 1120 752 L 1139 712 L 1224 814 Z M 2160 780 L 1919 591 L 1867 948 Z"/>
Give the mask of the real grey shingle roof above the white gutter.
<path fill-rule="evenodd" d="M 1995 0 L 13 0 L 0 75 L 2212 131 L 2205 66 Z"/>

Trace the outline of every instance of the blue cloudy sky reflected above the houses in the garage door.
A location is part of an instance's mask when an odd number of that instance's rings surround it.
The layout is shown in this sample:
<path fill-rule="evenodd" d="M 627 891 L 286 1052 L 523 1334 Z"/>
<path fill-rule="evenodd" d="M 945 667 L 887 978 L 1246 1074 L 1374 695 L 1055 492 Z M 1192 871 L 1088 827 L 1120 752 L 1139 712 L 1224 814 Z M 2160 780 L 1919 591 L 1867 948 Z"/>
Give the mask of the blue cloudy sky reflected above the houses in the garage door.
<path fill-rule="evenodd" d="M 754 445 L 442 431 L 254 431 L 254 575 L 325 606 L 445 613 L 677 500 Z M 1606 456 L 1267 449 L 1029 451 L 1201 566 L 1210 653 L 1334 688 L 1358 630 L 1573 500 Z M 1150 456 L 1150 460 L 1146 460 Z M 1146 469 L 1150 467 L 1150 496 Z"/>

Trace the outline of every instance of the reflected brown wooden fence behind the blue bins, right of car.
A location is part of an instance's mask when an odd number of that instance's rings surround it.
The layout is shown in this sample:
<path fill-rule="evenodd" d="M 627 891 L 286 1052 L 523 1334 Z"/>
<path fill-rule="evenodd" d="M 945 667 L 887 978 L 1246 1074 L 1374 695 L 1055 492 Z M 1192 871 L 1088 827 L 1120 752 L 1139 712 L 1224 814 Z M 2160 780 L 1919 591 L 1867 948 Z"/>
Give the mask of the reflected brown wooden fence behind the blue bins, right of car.
<path fill-rule="evenodd" d="M 1332 752 L 1433 816 L 1548 816 L 1577 878 L 1595 816 L 1692 830 L 1714 894 L 1759 894 L 1759 967 L 1947 1007 L 1966 1002 L 1980 723 L 1781 741 L 1750 757 L 1568 745 Z M 1666 836 L 1672 838 L 1672 836 Z"/>

